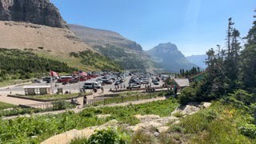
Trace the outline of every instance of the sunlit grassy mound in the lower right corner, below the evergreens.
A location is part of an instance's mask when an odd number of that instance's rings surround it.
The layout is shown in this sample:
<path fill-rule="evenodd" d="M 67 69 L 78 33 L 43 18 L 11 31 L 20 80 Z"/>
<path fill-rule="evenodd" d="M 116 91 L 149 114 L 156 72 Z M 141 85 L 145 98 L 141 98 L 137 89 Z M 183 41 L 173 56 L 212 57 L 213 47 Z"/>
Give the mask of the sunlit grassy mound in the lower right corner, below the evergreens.
<path fill-rule="evenodd" d="M 182 118 L 177 125 L 170 126 L 161 141 L 164 143 L 255 143 L 238 130 L 248 119 L 246 112 L 232 106 L 214 102 L 206 110 Z"/>

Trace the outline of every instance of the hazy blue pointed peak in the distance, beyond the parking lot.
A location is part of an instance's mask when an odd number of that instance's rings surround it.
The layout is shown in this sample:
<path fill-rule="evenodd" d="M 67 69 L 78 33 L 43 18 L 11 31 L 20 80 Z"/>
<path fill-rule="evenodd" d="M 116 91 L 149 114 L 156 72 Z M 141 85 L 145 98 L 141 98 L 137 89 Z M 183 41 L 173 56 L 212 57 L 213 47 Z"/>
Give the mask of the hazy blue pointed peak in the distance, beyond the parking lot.
<path fill-rule="evenodd" d="M 170 72 L 179 72 L 180 69 L 190 70 L 194 63 L 186 59 L 177 46 L 168 42 L 161 43 L 153 49 L 146 51 L 158 65 Z"/>

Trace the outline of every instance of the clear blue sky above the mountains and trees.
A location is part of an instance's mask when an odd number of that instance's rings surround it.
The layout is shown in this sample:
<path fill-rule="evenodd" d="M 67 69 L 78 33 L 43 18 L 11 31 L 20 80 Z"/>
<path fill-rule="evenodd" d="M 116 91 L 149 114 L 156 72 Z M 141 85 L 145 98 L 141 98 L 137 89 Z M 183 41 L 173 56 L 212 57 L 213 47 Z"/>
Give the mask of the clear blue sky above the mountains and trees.
<path fill-rule="evenodd" d="M 186 56 L 226 46 L 228 18 L 246 36 L 256 0 L 50 0 L 70 24 L 113 30 L 143 50 L 172 42 Z"/>

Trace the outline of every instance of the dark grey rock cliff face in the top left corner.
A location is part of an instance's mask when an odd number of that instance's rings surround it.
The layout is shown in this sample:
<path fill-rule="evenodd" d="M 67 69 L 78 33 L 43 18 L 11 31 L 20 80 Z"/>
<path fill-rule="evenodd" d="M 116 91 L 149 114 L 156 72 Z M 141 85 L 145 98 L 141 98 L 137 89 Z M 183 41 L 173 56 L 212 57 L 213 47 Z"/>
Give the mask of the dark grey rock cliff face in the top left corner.
<path fill-rule="evenodd" d="M 59 28 L 67 26 L 49 0 L 0 0 L 0 21 L 31 22 Z"/>

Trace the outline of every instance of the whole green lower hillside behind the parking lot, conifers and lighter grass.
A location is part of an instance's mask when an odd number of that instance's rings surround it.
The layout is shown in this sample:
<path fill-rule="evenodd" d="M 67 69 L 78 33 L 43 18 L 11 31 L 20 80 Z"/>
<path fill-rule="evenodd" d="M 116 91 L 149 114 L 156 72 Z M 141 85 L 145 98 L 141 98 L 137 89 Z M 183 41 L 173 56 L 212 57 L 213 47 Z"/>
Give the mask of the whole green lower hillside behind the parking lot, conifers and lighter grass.
<path fill-rule="evenodd" d="M 54 55 L 46 51 L 0 48 L 0 82 L 41 77 L 50 70 L 72 73 L 77 70 L 122 70 L 115 62 L 92 51 Z"/>

